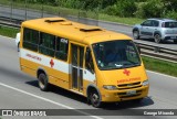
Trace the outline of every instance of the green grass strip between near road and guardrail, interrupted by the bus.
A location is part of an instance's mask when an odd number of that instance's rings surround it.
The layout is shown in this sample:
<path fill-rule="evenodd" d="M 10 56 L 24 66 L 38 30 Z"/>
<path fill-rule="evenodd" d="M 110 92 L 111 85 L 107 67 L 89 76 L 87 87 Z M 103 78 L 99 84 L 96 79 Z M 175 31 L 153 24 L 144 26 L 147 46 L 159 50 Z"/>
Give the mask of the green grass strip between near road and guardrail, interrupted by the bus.
<path fill-rule="evenodd" d="M 14 39 L 18 32 L 19 32 L 18 29 L 0 26 L 0 35 Z M 170 63 L 170 62 L 155 60 L 146 56 L 143 56 L 143 62 L 145 64 L 146 69 L 177 77 L 177 68 L 176 68 L 177 63 Z"/>

